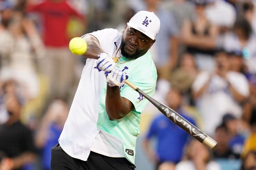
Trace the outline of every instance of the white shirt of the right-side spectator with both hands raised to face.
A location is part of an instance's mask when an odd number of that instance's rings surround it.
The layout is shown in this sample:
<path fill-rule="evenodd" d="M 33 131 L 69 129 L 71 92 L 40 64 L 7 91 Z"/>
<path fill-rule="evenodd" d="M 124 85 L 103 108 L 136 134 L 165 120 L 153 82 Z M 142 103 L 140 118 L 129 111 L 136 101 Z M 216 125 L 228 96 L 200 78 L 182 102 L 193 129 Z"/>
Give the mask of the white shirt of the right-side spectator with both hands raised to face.
<path fill-rule="evenodd" d="M 241 95 L 249 95 L 248 81 L 243 74 L 229 71 L 226 77 Z M 218 75 L 211 76 L 208 72 L 201 72 L 195 78 L 192 90 L 197 92 L 210 78 L 207 89 L 196 100 L 196 107 L 202 116 L 204 132 L 212 135 L 224 114 L 231 113 L 239 118 L 242 108 L 232 97 L 227 80 Z"/>

